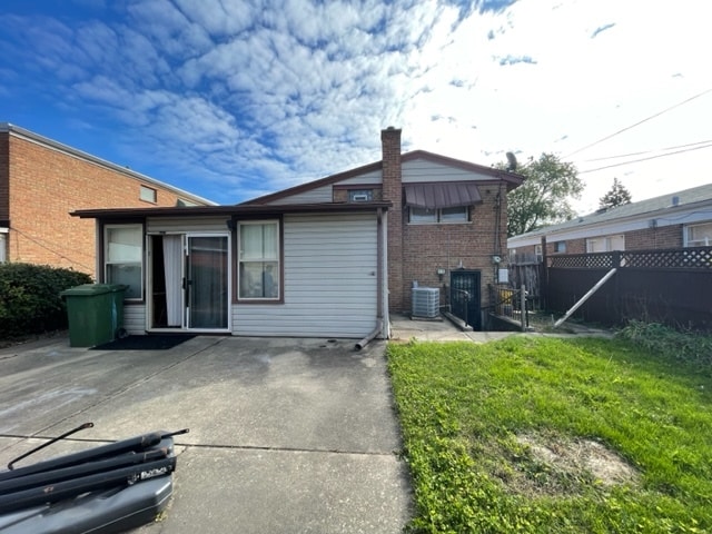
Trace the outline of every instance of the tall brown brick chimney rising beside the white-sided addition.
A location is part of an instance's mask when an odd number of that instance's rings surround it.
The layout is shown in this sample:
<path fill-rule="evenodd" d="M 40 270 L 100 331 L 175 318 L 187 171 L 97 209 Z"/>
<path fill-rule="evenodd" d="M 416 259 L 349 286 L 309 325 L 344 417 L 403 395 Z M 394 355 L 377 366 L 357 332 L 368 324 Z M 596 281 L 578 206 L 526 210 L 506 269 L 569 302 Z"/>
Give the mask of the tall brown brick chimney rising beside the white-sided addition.
<path fill-rule="evenodd" d="M 404 312 L 400 130 L 393 126 L 382 130 L 380 146 L 383 199 L 393 202 L 388 211 L 388 309 Z"/>

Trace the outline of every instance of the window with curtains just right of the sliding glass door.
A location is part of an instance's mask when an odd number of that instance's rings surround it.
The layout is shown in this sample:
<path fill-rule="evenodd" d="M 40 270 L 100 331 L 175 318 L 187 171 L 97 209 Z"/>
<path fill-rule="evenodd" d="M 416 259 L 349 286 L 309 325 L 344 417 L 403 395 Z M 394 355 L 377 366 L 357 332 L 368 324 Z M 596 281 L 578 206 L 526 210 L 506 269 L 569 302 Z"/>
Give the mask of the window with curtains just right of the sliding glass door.
<path fill-rule="evenodd" d="M 279 222 L 239 224 L 239 298 L 278 300 Z"/>

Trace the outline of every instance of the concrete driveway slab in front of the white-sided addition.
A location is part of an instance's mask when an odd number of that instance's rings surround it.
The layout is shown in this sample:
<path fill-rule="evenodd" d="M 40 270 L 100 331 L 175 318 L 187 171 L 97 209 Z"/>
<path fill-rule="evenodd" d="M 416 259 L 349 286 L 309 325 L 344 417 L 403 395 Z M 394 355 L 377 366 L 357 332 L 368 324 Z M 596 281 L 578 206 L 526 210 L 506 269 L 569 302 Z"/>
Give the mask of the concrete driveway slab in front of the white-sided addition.
<path fill-rule="evenodd" d="M 187 427 L 172 503 L 136 532 L 395 534 L 411 517 L 384 342 L 359 352 L 353 340 L 210 336 L 168 350 L 68 345 L 0 350 L 0 465 L 85 422 L 96 426 L 31 462 Z"/>

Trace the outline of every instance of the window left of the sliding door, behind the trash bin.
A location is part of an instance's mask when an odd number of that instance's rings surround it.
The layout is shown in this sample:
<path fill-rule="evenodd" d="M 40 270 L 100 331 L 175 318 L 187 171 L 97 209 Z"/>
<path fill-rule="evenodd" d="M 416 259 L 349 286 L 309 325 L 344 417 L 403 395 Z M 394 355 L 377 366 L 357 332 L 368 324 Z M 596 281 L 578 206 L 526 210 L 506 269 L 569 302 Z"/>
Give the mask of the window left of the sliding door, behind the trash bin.
<path fill-rule="evenodd" d="M 127 299 L 144 295 L 144 228 L 141 225 L 107 225 L 103 234 L 105 281 L 129 286 Z"/>

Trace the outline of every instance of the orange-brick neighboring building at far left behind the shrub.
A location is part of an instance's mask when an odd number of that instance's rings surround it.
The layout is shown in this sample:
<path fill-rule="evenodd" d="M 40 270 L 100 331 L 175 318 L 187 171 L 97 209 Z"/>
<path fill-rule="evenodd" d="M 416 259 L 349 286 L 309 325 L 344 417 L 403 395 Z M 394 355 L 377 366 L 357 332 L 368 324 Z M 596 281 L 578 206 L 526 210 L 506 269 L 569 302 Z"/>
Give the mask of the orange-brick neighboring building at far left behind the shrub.
<path fill-rule="evenodd" d="M 128 168 L 0 123 L 0 263 L 93 274 L 96 228 L 82 208 L 212 205 Z"/>

